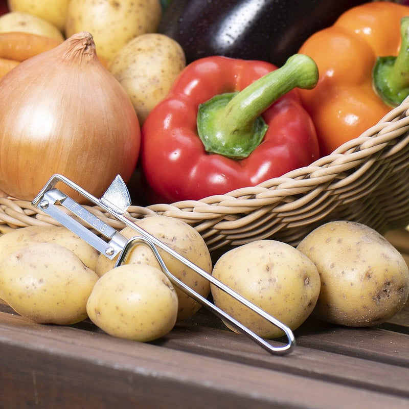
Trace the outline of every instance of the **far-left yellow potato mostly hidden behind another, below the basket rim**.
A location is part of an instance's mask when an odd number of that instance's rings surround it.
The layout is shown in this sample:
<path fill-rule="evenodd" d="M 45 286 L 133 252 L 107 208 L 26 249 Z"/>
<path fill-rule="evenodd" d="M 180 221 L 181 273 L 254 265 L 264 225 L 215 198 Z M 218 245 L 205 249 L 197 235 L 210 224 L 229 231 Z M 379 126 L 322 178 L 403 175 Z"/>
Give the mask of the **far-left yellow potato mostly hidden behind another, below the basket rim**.
<path fill-rule="evenodd" d="M 0 261 L 34 243 L 55 243 L 75 253 L 90 269 L 97 268 L 99 252 L 64 226 L 28 226 L 0 236 Z"/>

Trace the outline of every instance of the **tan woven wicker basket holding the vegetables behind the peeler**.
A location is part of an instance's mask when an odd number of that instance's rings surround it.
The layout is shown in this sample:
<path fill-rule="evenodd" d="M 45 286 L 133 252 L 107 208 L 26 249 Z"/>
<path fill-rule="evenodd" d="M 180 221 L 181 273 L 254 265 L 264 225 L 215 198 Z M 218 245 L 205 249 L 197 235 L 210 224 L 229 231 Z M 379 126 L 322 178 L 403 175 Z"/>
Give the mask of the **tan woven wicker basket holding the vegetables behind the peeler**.
<path fill-rule="evenodd" d="M 317 225 L 354 220 L 384 234 L 409 224 L 409 98 L 378 124 L 310 166 L 200 201 L 131 206 L 128 217 L 162 214 L 186 221 L 209 249 L 271 238 L 297 245 Z M 98 207 L 88 210 L 123 225 Z M 29 201 L 0 198 L 0 231 L 56 224 Z"/>

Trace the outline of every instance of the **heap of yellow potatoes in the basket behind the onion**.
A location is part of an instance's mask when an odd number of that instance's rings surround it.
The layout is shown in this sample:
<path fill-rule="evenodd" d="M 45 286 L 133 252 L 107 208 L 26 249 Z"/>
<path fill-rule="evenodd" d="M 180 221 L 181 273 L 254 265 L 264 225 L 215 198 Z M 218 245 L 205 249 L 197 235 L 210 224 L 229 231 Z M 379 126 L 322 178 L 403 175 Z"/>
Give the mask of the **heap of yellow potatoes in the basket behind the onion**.
<path fill-rule="evenodd" d="M 179 43 L 156 33 L 160 0 L 8 0 L 8 5 L 10 12 L 0 17 L 0 32 L 57 39 L 90 32 L 98 57 L 125 89 L 141 125 L 186 66 Z"/>

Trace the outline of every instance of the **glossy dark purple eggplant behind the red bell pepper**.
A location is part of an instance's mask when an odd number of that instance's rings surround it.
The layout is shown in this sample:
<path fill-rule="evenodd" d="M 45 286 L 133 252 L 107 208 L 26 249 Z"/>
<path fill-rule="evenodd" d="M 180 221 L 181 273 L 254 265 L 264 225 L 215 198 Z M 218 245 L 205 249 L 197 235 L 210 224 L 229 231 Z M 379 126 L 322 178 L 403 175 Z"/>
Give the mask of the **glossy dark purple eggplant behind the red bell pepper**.
<path fill-rule="evenodd" d="M 277 66 L 315 31 L 358 0 L 172 0 L 158 31 L 175 39 L 187 62 L 224 55 Z"/>

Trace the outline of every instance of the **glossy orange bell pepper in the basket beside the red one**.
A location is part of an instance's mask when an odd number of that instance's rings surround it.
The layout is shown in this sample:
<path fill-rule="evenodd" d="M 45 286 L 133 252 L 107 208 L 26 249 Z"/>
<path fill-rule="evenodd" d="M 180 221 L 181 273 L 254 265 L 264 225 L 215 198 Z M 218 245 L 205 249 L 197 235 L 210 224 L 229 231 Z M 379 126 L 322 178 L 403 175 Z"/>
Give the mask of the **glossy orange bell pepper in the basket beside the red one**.
<path fill-rule="evenodd" d="M 408 6 L 366 3 L 346 11 L 301 47 L 300 53 L 310 56 L 319 69 L 315 88 L 300 89 L 299 94 L 315 124 L 321 155 L 358 137 L 409 94 L 409 29 L 402 26 L 401 35 L 400 28 L 406 16 Z M 405 47 L 400 47 L 401 41 Z M 384 70 L 379 67 L 383 63 Z M 373 83 L 375 65 L 378 85 Z M 380 95 L 379 89 L 399 95 Z"/>

